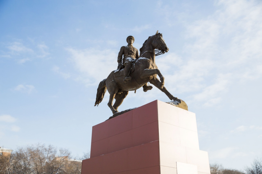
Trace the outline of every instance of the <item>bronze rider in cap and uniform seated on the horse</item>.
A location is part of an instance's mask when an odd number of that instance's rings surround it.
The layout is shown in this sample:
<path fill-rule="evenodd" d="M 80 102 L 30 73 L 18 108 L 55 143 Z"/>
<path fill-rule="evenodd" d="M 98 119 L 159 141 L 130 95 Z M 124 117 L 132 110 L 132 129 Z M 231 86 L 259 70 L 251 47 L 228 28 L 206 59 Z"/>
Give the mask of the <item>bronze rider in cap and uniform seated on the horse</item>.
<path fill-rule="evenodd" d="M 138 50 L 133 46 L 134 41 L 135 41 L 135 38 L 133 36 L 128 36 L 127 37 L 127 43 L 128 43 L 127 46 L 121 47 L 118 53 L 118 57 L 117 57 L 118 68 L 120 69 L 122 65 L 124 66 L 124 77 L 123 77 L 124 83 L 131 80 L 129 73 L 130 73 L 132 62 L 135 59 L 139 58 Z M 123 56 L 124 58 L 122 61 Z M 143 90 L 145 92 L 151 89 L 152 89 L 152 86 L 147 86 L 147 84 L 143 86 Z"/>

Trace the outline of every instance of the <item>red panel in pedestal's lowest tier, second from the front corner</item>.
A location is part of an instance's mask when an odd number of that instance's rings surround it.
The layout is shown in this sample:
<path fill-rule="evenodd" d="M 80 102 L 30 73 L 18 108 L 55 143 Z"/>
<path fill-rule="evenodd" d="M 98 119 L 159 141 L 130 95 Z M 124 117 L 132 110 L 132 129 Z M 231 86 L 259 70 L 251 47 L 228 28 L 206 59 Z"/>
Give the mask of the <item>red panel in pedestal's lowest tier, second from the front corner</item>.
<path fill-rule="evenodd" d="M 127 149 L 102 155 L 102 174 L 127 171 Z"/>

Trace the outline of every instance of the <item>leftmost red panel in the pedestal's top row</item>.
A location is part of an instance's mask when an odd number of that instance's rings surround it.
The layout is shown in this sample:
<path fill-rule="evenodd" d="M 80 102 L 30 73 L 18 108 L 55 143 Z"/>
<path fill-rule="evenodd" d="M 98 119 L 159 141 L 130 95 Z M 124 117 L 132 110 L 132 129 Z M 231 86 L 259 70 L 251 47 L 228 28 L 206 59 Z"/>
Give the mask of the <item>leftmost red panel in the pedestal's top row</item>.
<path fill-rule="evenodd" d="M 100 124 L 93 126 L 91 142 L 95 142 L 95 141 L 107 138 L 108 137 L 108 125 L 109 125 L 109 122 L 107 120 L 107 121 L 104 121 Z"/>

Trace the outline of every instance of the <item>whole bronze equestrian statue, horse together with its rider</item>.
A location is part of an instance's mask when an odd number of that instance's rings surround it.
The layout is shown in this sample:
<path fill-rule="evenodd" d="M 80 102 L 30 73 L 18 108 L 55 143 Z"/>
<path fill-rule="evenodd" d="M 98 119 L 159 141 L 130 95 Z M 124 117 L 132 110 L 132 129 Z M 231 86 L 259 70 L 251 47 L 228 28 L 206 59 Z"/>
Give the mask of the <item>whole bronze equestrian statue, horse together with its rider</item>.
<path fill-rule="evenodd" d="M 145 40 L 143 46 L 140 48 L 139 56 L 138 50 L 133 46 L 134 40 L 133 36 L 127 37 L 128 45 L 121 47 L 118 54 L 117 70 L 112 71 L 106 79 L 103 79 L 99 83 L 95 106 L 99 105 L 103 100 L 106 90 L 108 90 L 110 97 L 107 105 L 112 113 L 116 114 L 118 112 L 117 108 L 128 95 L 128 91 L 135 91 L 142 86 L 144 92 L 151 90 L 152 86 L 148 86 L 148 82 L 164 92 L 170 100 L 181 103 L 180 99 L 174 97 L 164 87 L 165 78 L 155 63 L 157 55 L 167 53 L 169 50 L 165 40 L 162 38 L 162 34 L 157 31 L 155 35 Z M 116 101 L 113 105 L 114 98 Z"/>

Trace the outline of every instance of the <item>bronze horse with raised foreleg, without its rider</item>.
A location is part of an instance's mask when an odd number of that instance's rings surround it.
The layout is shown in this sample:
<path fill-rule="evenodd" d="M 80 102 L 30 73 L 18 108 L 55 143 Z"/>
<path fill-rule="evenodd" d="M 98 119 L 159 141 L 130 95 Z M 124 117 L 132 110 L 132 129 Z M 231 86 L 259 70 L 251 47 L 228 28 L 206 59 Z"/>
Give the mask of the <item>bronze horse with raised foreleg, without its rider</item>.
<path fill-rule="evenodd" d="M 145 40 L 142 48 L 140 48 L 140 56 L 135 60 L 133 69 L 130 72 L 132 79 L 129 82 L 123 82 L 123 70 L 119 72 L 112 71 L 109 76 L 99 83 L 96 94 L 95 106 L 103 100 L 103 97 L 108 90 L 110 97 L 107 103 L 113 114 L 117 113 L 117 108 L 122 104 L 124 98 L 127 96 L 128 91 L 134 91 L 141 88 L 144 84 L 150 82 L 162 92 L 164 92 L 170 100 L 181 102 L 180 99 L 174 97 L 164 87 L 165 78 L 160 73 L 156 66 L 155 49 L 161 51 L 162 54 L 167 52 L 169 49 L 166 46 L 165 40 L 162 38 L 162 34 L 156 32 L 155 35 L 150 36 Z M 159 76 L 160 80 L 157 78 Z M 116 99 L 112 106 L 114 98 Z"/>

